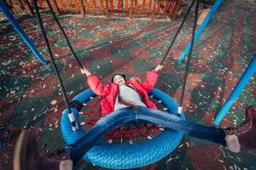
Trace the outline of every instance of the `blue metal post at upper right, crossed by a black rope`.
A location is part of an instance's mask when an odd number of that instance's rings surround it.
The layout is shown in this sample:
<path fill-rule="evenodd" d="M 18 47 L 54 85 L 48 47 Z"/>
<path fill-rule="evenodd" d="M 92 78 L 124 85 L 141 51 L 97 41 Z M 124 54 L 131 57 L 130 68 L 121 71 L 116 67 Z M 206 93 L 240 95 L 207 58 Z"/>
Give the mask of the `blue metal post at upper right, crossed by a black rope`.
<path fill-rule="evenodd" d="M 201 35 L 201 32 L 204 31 L 205 27 L 207 26 L 207 24 L 209 23 L 209 21 L 212 19 L 213 14 L 215 14 L 215 12 L 217 11 L 218 7 L 220 6 L 220 4 L 223 2 L 223 0 L 217 0 L 211 10 L 209 11 L 209 13 L 207 14 L 207 17 L 205 18 L 205 20 L 203 20 L 203 22 L 201 23 L 201 26 L 198 28 L 198 30 L 195 33 L 195 40 Z M 194 41 L 195 41 L 194 40 Z M 186 54 L 188 54 L 189 52 L 189 48 L 191 46 L 191 42 L 189 42 L 189 44 L 187 45 L 187 47 L 184 49 L 183 54 L 179 57 L 179 59 L 177 59 L 177 63 L 181 63 L 183 62 L 183 59 L 185 58 Z"/>

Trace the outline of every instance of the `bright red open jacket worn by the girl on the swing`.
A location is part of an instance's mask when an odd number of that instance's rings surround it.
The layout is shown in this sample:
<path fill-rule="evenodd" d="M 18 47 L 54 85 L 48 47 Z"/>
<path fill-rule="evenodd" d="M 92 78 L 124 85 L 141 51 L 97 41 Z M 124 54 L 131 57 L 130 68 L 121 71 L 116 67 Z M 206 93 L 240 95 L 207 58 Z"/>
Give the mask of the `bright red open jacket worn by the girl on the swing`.
<path fill-rule="evenodd" d="M 146 80 L 142 83 L 137 82 L 136 76 L 131 77 L 129 81 L 126 82 L 127 85 L 131 84 L 132 87 L 136 88 L 137 92 L 142 94 L 145 105 L 148 108 L 156 109 L 156 106 L 153 102 L 148 99 L 148 92 L 154 88 L 154 84 L 157 81 L 157 71 L 153 70 L 148 72 Z M 113 82 L 108 82 L 108 86 L 103 86 L 99 78 L 91 74 L 87 77 L 87 82 L 90 86 L 90 89 L 102 97 L 102 116 L 106 116 L 109 113 L 113 112 L 115 98 L 119 93 L 119 86 Z"/>

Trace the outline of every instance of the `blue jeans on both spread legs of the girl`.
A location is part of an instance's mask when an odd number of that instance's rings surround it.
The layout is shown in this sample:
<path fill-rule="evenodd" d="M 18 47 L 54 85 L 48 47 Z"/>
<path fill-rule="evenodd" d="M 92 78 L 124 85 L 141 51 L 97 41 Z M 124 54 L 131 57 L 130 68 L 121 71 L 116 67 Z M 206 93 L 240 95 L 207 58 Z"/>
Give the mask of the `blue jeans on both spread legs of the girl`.
<path fill-rule="evenodd" d="M 111 115 L 111 116 L 110 116 Z M 115 111 L 108 116 L 102 117 L 94 127 L 71 144 L 70 156 L 73 160 L 79 160 L 90 148 L 100 141 L 104 134 L 116 127 L 127 123 L 151 122 L 162 127 L 172 128 L 189 136 L 206 139 L 212 142 L 226 145 L 224 130 L 217 127 L 209 127 L 200 124 L 183 121 L 178 116 L 172 115 L 165 111 L 149 109 L 143 106 L 136 108 L 124 108 Z M 81 151 L 83 150 L 83 152 Z"/>

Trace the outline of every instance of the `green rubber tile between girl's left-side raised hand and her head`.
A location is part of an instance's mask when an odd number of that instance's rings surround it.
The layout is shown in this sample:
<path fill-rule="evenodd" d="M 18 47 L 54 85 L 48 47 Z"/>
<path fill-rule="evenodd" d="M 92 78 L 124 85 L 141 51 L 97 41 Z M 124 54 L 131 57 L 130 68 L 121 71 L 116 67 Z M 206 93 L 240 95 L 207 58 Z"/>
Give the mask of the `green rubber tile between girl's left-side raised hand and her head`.
<path fill-rule="evenodd" d="M 106 76 L 112 71 L 109 59 L 97 59 L 89 62 L 89 70 L 96 75 Z"/>

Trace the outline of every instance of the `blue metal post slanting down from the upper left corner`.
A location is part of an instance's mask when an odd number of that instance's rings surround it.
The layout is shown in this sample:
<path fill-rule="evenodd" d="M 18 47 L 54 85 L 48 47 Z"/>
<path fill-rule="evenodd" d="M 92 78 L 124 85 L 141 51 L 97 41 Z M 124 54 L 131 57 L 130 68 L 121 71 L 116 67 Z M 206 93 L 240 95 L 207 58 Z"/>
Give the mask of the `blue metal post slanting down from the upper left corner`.
<path fill-rule="evenodd" d="M 7 17 L 7 19 L 10 21 L 10 23 L 15 27 L 15 30 L 20 34 L 20 37 L 23 39 L 23 41 L 26 42 L 29 48 L 31 48 L 33 54 L 36 55 L 40 63 L 42 65 L 45 65 L 44 58 L 42 57 L 41 54 L 39 54 L 38 49 L 33 45 L 33 43 L 27 37 L 26 33 L 19 26 L 18 22 L 15 20 L 15 17 L 9 12 L 9 9 L 6 7 L 6 5 L 3 2 L 0 2 L 0 9 L 3 12 L 3 14 Z"/>

